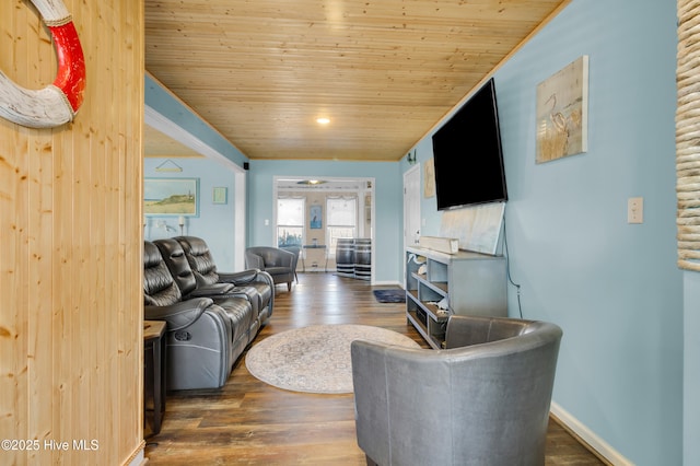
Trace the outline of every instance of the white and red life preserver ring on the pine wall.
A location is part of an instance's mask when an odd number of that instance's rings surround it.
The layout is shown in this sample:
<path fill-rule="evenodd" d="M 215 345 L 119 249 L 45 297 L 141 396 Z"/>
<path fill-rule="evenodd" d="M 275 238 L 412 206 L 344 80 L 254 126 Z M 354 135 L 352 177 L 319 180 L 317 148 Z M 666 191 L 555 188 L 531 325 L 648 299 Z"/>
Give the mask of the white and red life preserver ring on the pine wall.
<path fill-rule="evenodd" d="M 31 0 L 49 28 L 58 72 L 52 84 L 24 89 L 0 71 L 0 116 L 31 128 L 54 128 L 72 121 L 83 103 L 85 58 L 70 13 L 61 0 Z"/>

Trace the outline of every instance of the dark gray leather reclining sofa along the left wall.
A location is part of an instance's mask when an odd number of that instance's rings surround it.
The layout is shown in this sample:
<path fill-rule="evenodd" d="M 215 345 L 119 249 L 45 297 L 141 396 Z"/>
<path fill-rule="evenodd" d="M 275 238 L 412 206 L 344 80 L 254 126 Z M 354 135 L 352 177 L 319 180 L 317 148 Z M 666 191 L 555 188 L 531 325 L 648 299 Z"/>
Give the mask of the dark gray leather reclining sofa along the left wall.
<path fill-rule="evenodd" d="M 259 270 L 198 283 L 179 242 L 143 243 L 144 318 L 165 321 L 167 389 L 218 388 L 272 314 L 272 279 Z"/>

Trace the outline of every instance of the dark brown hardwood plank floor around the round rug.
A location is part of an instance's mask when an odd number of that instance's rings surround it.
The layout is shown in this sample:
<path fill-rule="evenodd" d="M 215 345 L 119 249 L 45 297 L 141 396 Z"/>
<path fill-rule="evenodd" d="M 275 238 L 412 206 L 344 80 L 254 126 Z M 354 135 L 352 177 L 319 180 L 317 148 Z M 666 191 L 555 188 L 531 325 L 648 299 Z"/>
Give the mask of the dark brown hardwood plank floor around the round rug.
<path fill-rule="evenodd" d="M 275 313 L 256 341 L 307 325 L 363 324 L 428 348 L 407 325 L 405 305 L 377 303 L 366 281 L 331 272 L 300 273 L 299 280 L 291 292 L 278 286 Z M 352 395 L 275 388 L 248 373 L 245 354 L 221 389 L 168 394 L 162 430 L 147 439 L 145 456 L 149 465 L 365 464 L 355 443 Z M 546 464 L 604 463 L 550 420 Z"/>

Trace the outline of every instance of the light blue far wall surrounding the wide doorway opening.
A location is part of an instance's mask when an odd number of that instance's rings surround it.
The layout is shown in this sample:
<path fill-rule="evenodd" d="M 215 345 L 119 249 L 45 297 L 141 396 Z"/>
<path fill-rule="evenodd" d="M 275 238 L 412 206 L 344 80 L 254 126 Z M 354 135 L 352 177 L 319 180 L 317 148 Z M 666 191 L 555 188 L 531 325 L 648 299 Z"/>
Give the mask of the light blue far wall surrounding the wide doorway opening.
<path fill-rule="evenodd" d="M 404 201 L 398 162 L 250 161 L 248 171 L 248 245 L 275 242 L 272 199 L 275 176 L 374 177 L 375 267 L 377 282 L 400 282 Z M 269 225 L 265 220 L 269 220 Z M 397 241 L 398 240 L 398 241 Z"/>

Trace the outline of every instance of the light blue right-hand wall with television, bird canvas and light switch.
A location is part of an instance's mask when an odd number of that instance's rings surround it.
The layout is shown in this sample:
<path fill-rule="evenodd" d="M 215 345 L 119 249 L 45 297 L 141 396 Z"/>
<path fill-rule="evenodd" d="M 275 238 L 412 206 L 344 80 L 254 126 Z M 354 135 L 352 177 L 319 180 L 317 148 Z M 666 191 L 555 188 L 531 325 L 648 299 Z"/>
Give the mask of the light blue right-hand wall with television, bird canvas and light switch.
<path fill-rule="evenodd" d="M 676 42 L 676 2 L 574 0 L 495 73 L 511 273 L 524 316 L 564 330 L 553 400 L 638 465 L 682 464 Z M 588 151 L 538 165 L 537 84 L 582 55 L 590 57 Z M 428 139 L 418 154 L 421 162 L 432 155 Z M 641 225 L 627 223 L 627 200 L 637 196 Z M 424 233 L 438 233 L 434 199 L 421 208 L 431 219 Z M 509 305 L 517 315 L 513 287 Z M 697 392 L 697 370 L 695 377 Z M 697 433 L 697 420 L 688 423 Z"/>

